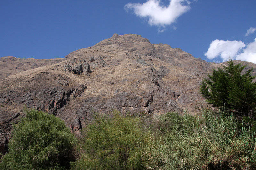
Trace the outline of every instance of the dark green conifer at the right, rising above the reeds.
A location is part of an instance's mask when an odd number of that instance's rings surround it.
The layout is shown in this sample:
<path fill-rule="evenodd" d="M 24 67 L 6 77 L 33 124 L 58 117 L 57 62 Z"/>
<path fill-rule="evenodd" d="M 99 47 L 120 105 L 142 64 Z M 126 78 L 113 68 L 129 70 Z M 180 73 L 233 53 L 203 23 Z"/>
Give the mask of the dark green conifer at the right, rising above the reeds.
<path fill-rule="evenodd" d="M 213 107 L 225 108 L 238 114 L 253 116 L 256 104 L 256 84 L 253 68 L 242 74 L 246 66 L 228 61 L 228 66 L 213 69 L 209 79 L 201 83 L 200 91 Z"/>

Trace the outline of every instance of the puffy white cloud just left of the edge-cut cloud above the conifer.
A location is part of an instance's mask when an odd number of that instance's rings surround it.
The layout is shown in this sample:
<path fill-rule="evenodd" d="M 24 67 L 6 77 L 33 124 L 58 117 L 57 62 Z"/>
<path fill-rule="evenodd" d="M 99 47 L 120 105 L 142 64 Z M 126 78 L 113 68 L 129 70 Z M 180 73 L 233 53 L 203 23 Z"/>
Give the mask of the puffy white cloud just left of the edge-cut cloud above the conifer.
<path fill-rule="evenodd" d="M 214 59 L 220 56 L 223 61 L 227 61 L 230 57 L 234 59 L 236 54 L 245 47 L 242 41 L 223 41 L 216 39 L 212 41 L 208 51 L 204 54 L 208 59 Z"/>

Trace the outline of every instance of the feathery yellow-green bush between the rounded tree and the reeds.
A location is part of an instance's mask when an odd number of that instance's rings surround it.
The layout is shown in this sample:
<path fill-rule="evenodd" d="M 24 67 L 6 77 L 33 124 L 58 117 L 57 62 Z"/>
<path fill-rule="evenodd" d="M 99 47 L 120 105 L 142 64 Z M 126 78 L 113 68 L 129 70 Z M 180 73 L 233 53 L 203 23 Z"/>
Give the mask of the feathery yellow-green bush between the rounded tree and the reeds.
<path fill-rule="evenodd" d="M 80 158 L 71 164 L 72 169 L 143 169 L 141 125 L 138 117 L 124 117 L 118 111 L 113 118 L 95 113 L 92 124 L 83 131 Z"/>

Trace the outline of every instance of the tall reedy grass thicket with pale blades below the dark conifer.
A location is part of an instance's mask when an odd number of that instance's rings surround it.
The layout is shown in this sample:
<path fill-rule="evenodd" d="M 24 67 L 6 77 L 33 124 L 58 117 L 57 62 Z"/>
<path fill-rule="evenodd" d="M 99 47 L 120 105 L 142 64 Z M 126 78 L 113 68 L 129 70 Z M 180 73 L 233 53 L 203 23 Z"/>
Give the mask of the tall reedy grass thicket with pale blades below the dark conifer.
<path fill-rule="evenodd" d="M 232 116 L 170 112 L 156 117 L 152 126 L 158 136 L 141 148 L 146 169 L 256 168 L 255 133 L 244 125 L 239 131 Z"/>

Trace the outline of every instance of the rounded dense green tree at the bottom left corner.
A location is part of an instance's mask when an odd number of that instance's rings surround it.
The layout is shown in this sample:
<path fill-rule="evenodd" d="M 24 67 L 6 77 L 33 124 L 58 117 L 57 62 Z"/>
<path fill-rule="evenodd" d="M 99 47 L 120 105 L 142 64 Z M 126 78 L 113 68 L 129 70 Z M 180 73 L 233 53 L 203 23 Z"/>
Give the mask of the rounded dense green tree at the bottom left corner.
<path fill-rule="evenodd" d="M 13 124 L 0 169 L 67 169 L 76 138 L 60 118 L 36 110 Z"/>

